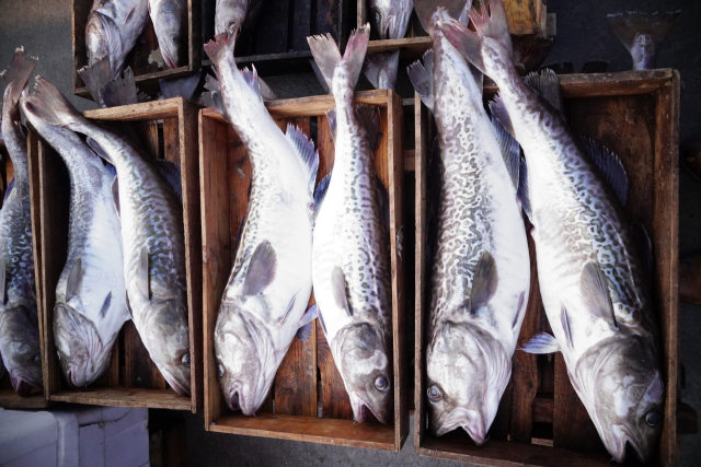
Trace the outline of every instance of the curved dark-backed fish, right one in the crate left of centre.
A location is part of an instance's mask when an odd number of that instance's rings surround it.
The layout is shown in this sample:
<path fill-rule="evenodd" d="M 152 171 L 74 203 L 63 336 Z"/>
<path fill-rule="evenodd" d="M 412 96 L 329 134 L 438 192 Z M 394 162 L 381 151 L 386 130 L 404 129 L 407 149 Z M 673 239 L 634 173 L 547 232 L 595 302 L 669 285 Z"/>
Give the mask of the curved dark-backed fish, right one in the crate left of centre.
<path fill-rule="evenodd" d="M 46 80 L 37 78 L 24 108 L 49 125 L 88 136 L 91 148 L 116 167 L 112 192 L 122 221 L 127 306 L 168 384 L 181 396 L 189 394 L 185 240 L 175 188 L 142 150 L 85 119 Z"/>

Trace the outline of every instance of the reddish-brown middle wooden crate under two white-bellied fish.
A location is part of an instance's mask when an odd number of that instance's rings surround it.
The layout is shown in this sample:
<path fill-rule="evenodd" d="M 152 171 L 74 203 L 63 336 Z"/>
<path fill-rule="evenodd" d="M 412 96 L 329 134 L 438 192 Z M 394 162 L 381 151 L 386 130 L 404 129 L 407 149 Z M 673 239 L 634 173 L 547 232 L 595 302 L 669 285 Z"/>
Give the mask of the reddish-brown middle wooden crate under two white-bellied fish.
<path fill-rule="evenodd" d="M 406 291 L 401 255 L 403 156 L 402 107 L 390 91 L 356 93 L 356 102 L 380 108 L 382 137 L 376 170 L 390 194 L 392 260 L 393 423 L 353 421 L 353 410 L 323 331 L 317 324 L 308 342 L 295 339 L 277 371 L 268 399 L 256 417 L 228 410 L 217 381 L 214 330 L 235 256 L 235 238 L 245 213 L 251 166 L 233 128 L 216 109 L 199 114 L 199 163 L 203 213 L 205 427 L 208 431 L 400 451 L 409 432 L 406 400 Z M 266 104 L 281 128 L 298 125 L 319 148 L 318 180 L 333 166 L 334 149 L 325 112 L 331 95 Z M 315 130 L 315 131 L 314 131 Z M 313 297 L 312 297 L 313 300 Z"/>

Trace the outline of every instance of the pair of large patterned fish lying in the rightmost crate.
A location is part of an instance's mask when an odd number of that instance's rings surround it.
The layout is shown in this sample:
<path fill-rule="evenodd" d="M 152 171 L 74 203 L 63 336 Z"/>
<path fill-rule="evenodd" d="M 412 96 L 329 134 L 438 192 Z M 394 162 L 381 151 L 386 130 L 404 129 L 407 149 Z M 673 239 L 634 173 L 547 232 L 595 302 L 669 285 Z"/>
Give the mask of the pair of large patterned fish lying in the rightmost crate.
<path fill-rule="evenodd" d="M 552 71 L 519 78 L 501 0 L 415 5 L 434 49 L 409 74 L 438 129 L 429 180 L 429 430 L 463 428 L 478 445 L 486 440 L 528 302 L 522 209 L 554 336 L 535 336 L 521 350 L 562 352 L 613 458 L 623 462 L 630 445 L 647 459 L 662 430 L 664 383 L 652 248 L 642 224 L 625 219 L 622 164 L 572 133 Z M 499 89 L 491 118 L 483 73 Z"/>

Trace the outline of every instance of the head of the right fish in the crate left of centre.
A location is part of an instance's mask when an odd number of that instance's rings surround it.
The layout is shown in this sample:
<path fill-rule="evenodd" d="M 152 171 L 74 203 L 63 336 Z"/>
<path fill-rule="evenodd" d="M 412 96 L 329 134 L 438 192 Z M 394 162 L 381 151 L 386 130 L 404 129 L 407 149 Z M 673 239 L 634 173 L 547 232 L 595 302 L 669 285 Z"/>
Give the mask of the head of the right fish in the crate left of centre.
<path fill-rule="evenodd" d="M 180 299 L 153 296 L 139 332 L 153 363 L 168 384 L 181 396 L 189 395 L 189 328 L 187 306 Z"/>

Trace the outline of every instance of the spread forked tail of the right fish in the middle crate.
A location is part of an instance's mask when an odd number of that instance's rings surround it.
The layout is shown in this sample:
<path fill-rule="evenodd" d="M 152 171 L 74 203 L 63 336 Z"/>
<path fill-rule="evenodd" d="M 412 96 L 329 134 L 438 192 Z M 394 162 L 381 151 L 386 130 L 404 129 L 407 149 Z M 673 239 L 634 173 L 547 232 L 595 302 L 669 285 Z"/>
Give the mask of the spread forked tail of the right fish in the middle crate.
<path fill-rule="evenodd" d="M 329 89 L 333 90 L 333 74 L 337 66 L 345 68 L 348 85 L 355 87 L 363 70 L 369 37 L 369 23 L 353 31 L 343 57 L 341 57 L 338 46 L 331 34 L 307 37 L 311 54 Z"/>

